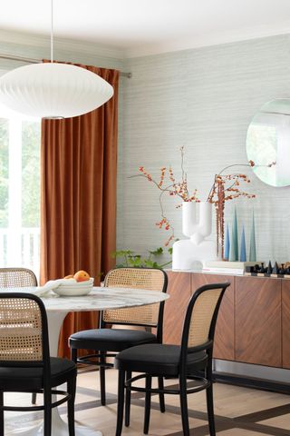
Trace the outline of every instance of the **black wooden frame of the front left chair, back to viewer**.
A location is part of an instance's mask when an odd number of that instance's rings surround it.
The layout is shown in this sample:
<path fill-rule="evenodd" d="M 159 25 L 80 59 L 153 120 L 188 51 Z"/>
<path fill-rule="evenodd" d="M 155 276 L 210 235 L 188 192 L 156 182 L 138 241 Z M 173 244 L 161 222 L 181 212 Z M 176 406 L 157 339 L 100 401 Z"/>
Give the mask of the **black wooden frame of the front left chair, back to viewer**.
<path fill-rule="evenodd" d="M 75 375 L 67 380 L 67 391 L 55 390 L 51 388 L 51 366 L 50 366 L 50 352 L 49 352 L 49 339 L 48 339 L 48 324 L 44 304 L 42 300 L 34 294 L 24 292 L 1 292 L 0 299 L 29 299 L 34 300 L 38 304 L 42 320 L 42 361 L 1 361 L 0 367 L 14 367 L 17 368 L 42 368 L 43 369 L 43 389 L 17 389 L 17 390 L 2 390 L 0 386 L 0 434 L 5 434 L 5 420 L 4 411 L 43 411 L 43 436 L 51 436 L 52 431 L 52 409 L 60 406 L 63 402 L 68 403 L 68 428 L 69 436 L 74 436 L 74 398 L 76 390 L 76 370 Z M 4 392 L 32 392 L 43 393 L 43 405 L 33 406 L 6 406 L 4 404 Z M 58 401 L 52 401 L 52 394 L 62 395 Z"/>

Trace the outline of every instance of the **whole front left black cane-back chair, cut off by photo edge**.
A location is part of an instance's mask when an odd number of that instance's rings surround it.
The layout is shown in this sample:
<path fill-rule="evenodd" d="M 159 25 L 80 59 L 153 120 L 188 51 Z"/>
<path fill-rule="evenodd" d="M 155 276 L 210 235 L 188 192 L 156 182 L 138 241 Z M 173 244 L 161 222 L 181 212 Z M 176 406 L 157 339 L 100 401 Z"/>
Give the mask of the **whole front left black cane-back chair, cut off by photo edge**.
<path fill-rule="evenodd" d="M 67 401 L 69 435 L 74 436 L 76 365 L 50 357 L 47 317 L 43 302 L 24 292 L 0 292 L 0 434 L 5 434 L 4 411 L 43 411 L 43 435 L 51 436 L 52 409 Z M 67 391 L 54 388 L 67 383 Z M 43 393 L 43 405 L 11 406 L 4 392 Z M 62 398 L 52 401 L 52 395 Z"/>

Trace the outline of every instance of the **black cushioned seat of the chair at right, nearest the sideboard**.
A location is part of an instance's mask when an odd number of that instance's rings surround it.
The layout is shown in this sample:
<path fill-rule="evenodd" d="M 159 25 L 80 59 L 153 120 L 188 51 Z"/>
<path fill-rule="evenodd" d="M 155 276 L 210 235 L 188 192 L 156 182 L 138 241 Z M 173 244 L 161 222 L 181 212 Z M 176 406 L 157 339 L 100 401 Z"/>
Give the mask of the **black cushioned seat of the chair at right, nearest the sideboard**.
<path fill-rule="evenodd" d="M 146 372 L 152 375 L 177 376 L 179 362 L 179 345 L 152 343 L 120 352 L 115 357 L 115 368 L 130 372 Z M 206 352 L 191 353 L 188 360 L 188 372 L 205 369 L 207 362 Z"/>

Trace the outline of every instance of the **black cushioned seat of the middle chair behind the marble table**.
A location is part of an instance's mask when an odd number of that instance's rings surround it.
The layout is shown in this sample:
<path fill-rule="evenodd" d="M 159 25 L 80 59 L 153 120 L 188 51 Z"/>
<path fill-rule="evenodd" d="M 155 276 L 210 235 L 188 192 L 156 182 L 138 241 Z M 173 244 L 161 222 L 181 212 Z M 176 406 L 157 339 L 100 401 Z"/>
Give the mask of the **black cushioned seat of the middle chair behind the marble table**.
<path fill-rule="evenodd" d="M 148 342 L 157 342 L 155 334 L 141 330 L 93 329 L 73 333 L 70 337 L 71 348 L 100 352 L 121 352 Z"/>

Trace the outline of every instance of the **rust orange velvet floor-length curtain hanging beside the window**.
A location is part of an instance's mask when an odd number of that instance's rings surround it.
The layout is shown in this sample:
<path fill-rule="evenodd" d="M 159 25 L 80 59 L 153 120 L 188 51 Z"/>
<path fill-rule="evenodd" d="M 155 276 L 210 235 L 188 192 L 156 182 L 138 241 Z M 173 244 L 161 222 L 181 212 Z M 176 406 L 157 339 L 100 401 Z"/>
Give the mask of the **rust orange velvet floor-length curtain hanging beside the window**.
<path fill-rule="evenodd" d="M 42 122 L 41 283 L 85 270 L 100 283 L 114 264 L 119 72 L 79 65 L 107 80 L 114 95 L 89 114 Z M 69 313 L 59 355 L 72 332 L 96 326 L 97 313 Z"/>

